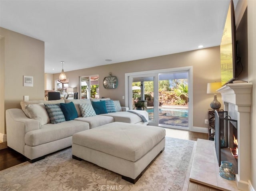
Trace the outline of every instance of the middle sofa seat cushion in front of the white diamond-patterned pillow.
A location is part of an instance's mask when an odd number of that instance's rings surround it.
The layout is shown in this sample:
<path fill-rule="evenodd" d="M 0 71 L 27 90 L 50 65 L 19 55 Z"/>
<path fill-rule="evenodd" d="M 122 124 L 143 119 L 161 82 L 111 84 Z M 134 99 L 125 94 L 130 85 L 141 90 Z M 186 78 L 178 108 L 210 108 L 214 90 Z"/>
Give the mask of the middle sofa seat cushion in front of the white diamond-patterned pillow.
<path fill-rule="evenodd" d="M 90 129 L 114 122 L 113 117 L 103 116 L 103 115 L 96 115 L 96 116 L 90 116 L 90 117 L 78 117 L 78 118 L 75 118 L 74 120 L 84 121 L 89 123 Z"/>

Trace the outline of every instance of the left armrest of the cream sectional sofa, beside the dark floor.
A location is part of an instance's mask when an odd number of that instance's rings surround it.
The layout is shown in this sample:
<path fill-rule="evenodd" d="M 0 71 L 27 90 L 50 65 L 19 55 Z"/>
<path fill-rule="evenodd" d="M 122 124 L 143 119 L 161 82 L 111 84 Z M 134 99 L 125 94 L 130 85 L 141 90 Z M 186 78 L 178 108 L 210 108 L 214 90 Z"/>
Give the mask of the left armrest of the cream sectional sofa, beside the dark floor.
<path fill-rule="evenodd" d="M 6 110 L 7 145 L 24 154 L 25 134 L 40 128 L 38 120 L 28 118 L 21 109 Z"/>

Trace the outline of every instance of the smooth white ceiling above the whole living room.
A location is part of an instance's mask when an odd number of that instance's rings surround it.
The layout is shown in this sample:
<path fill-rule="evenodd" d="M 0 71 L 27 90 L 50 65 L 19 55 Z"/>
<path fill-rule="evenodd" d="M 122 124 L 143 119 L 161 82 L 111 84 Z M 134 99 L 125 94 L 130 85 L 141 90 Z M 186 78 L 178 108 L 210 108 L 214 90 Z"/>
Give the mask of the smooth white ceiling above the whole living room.
<path fill-rule="evenodd" d="M 220 45 L 229 1 L 0 0 L 0 26 L 44 41 L 60 73 Z"/>

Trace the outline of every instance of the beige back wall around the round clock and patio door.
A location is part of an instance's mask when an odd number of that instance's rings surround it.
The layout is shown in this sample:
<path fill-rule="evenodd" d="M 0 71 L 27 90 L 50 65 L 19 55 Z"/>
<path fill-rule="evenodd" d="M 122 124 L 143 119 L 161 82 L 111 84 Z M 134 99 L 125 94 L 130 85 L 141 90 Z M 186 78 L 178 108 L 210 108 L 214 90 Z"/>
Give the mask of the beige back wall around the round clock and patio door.
<path fill-rule="evenodd" d="M 193 111 L 194 127 L 207 127 L 204 119 L 207 119 L 207 111 L 210 108 L 210 102 L 213 95 L 206 94 L 207 83 L 220 81 L 220 48 L 211 47 L 188 51 L 172 55 L 141 59 L 123 63 L 103 65 L 80 69 L 76 71 L 65 72 L 69 79 L 70 87 L 79 87 L 79 77 L 84 75 L 99 75 L 99 95 L 110 97 L 114 100 L 120 100 L 124 105 L 124 77 L 125 73 L 136 71 L 149 71 L 157 69 L 168 69 L 176 67 L 193 66 Z M 64 68 L 65 71 L 65 68 Z M 111 72 L 118 78 L 118 87 L 116 89 L 104 89 L 103 79 Z M 54 74 L 54 81 L 58 79 L 59 74 Z M 218 100 L 222 103 L 220 95 Z"/>

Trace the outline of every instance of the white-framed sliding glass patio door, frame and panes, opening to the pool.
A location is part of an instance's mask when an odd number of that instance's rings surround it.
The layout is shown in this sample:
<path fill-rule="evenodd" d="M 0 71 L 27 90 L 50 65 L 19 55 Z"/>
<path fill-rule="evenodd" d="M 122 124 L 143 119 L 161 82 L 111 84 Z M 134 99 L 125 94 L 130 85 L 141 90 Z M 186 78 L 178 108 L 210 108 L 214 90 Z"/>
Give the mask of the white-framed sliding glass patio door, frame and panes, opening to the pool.
<path fill-rule="evenodd" d="M 126 80 L 126 106 L 142 106 L 150 125 L 192 128 L 192 67 L 127 73 Z"/>

